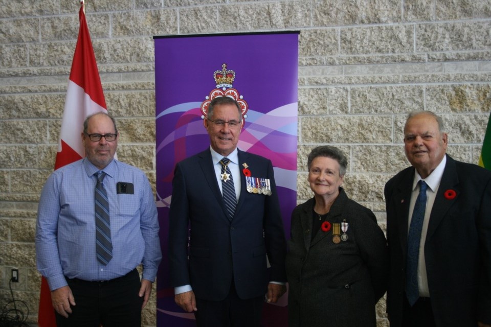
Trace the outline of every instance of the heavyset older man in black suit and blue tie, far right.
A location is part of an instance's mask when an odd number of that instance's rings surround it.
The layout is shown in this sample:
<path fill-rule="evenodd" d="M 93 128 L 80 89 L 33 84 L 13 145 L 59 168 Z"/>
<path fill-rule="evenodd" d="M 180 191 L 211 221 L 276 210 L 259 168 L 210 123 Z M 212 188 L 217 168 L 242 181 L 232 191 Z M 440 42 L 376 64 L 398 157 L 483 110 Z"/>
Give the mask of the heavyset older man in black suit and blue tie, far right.
<path fill-rule="evenodd" d="M 445 154 L 431 111 L 409 114 L 404 144 L 412 167 L 385 186 L 390 325 L 490 326 L 491 172 Z"/>

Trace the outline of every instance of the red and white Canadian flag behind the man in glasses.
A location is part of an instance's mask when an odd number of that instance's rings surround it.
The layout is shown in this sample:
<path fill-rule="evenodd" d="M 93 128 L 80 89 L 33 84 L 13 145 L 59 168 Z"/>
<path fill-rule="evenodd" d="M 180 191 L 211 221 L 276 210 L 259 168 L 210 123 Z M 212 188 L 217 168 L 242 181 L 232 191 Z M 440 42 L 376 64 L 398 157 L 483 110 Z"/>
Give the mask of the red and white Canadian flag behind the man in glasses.
<path fill-rule="evenodd" d="M 55 170 L 85 156 L 81 137 L 83 121 L 88 115 L 107 111 L 99 69 L 97 69 L 96 57 L 92 48 L 91 35 L 88 32 L 87 21 L 85 20 L 83 0 L 80 1 L 79 17 L 80 29 L 78 31 L 68 89 L 66 90 Z M 41 278 L 37 322 L 39 327 L 56 326 L 54 309 L 51 303 L 51 291 L 44 277 Z"/>

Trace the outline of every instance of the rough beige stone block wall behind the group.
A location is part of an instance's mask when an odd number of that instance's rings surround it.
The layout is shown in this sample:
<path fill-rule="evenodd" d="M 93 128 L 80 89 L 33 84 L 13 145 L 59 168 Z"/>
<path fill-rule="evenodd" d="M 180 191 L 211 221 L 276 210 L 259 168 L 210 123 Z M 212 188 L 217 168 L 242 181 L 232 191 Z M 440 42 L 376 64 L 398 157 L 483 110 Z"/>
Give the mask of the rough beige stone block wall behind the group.
<path fill-rule="evenodd" d="M 449 153 L 478 161 L 491 108 L 489 0 L 87 0 L 86 16 L 121 131 L 118 157 L 152 185 L 154 35 L 300 30 L 299 202 L 311 196 L 307 153 L 333 144 L 349 157 L 348 195 L 384 227 L 384 183 L 408 165 L 411 110 L 441 114 Z M 12 289 L 33 324 L 37 201 L 54 166 L 78 27 L 77 0 L 0 0 L 0 305 L 18 268 Z M 387 326 L 383 300 L 377 313 Z M 155 325 L 154 296 L 142 325 Z"/>

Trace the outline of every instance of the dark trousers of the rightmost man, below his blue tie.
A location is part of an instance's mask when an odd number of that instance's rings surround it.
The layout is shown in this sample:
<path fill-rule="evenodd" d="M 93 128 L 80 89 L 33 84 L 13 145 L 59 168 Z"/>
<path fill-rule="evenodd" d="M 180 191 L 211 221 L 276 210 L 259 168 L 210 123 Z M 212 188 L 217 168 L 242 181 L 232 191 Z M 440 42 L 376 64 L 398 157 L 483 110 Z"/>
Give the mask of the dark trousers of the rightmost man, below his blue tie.
<path fill-rule="evenodd" d="M 435 327 L 435 318 L 429 297 L 420 297 L 410 306 L 404 294 L 403 327 Z"/>

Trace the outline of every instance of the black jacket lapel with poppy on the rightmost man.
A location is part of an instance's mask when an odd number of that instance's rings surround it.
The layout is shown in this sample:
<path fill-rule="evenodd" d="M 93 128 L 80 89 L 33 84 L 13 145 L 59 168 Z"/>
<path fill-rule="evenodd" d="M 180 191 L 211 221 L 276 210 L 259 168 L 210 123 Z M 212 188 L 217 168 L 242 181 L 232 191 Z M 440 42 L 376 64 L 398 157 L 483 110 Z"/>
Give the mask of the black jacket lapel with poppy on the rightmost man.
<path fill-rule="evenodd" d="M 441 176 L 440 186 L 438 186 L 435 202 L 433 203 L 433 207 L 431 209 L 430 221 L 428 222 L 428 233 L 426 236 L 427 240 L 433 235 L 452 204 L 457 201 L 460 194 L 460 189 L 457 187 L 458 183 L 459 177 L 457 175 L 455 160 L 447 155 L 447 164 L 445 164 L 445 170 Z M 447 190 L 455 191 L 456 197 L 452 200 L 445 198 L 444 193 Z"/>

